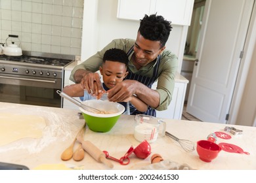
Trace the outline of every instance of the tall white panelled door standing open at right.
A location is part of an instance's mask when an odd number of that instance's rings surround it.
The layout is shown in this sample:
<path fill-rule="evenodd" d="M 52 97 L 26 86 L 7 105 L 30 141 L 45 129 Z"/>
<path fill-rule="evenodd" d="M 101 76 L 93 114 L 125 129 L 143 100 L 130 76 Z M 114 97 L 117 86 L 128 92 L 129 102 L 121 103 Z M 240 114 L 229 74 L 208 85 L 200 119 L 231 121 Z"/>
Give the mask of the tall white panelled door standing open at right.
<path fill-rule="evenodd" d="M 254 0 L 206 0 L 186 111 L 226 123 Z"/>

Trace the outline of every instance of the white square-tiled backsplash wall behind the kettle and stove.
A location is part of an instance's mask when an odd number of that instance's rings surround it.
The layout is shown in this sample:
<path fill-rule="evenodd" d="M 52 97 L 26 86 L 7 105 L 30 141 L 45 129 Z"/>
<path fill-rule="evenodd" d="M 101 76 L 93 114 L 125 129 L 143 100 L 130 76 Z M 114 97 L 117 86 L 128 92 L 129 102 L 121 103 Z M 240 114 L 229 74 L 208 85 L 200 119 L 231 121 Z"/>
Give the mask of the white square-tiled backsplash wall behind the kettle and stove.
<path fill-rule="evenodd" d="M 82 23 L 83 0 L 0 0 L 0 42 L 22 50 L 81 55 Z"/>

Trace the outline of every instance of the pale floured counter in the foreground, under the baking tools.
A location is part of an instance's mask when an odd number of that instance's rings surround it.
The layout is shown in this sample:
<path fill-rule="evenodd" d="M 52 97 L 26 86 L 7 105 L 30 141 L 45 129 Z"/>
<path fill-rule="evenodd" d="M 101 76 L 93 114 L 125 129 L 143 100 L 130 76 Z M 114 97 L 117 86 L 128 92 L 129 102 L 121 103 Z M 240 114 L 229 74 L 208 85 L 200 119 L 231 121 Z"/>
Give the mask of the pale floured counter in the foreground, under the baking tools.
<path fill-rule="evenodd" d="M 43 137 L 40 139 L 25 138 L 0 146 L 0 161 L 26 165 L 35 169 L 40 165 L 66 165 L 67 167 L 79 167 L 80 169 L 109 169 L 106 165 L 98 163 L 85 153 L 82 161 L 62 161 L 60 155 L 70 146 L 77 131 L 84 124 L 79 119 L 76 110 L 64 108 L 39 107 L 31 105 L 19 105 L 12 103 L 0 103 L 0 113 L 14 113 L 38 115 L 45 118 L 47 126 L 43 129 Z M 133 137 L 134 116 L 121 115 L 117 124 L 108 133 L 95 133 L 86 129 L 84 139 L 93 142 L 100 150 L 107 150 L 110 156 L 121 158 L 130 146 L 136 147 L 140 142 Z M 210 133 L 224 131 L 224 124 L 208 122 L 192 122 L 185 120 L 164 119 L 167 122 L 167 131 L 181 139 L 190 139 L 197 142 L 206 139 Z M 226 142 L 240 146 L 247 154 L 230 153 L 222 150 L 216 159 L 206 163 L 198 158 L 194 152 L 184 152 L 178 142 L 169 137 L 159 137 L 151 145 L 152 154 L 161 154 L 163 159 L 175 161 L 179 164 L 186 163 L 193 169 L 256 169 L 256 127 L 232 125 L 241 129 L 241 135 L 228 133 L 231 139 L 217 139 L 217 143 Z M 1 136 L 1 135 L 0 135 Z M 0 137 L 5 138 L 5 137 Z M 150 158 L 139 159 L 134 154 L 130 156 L 129 165 L 120 165 L 116 161 L 113 169 L 141 169 L 150 165 Z M 110 160 L 111 161 L 111 160 Z M 51 167 L 51 166 L 50 166 Z"/>

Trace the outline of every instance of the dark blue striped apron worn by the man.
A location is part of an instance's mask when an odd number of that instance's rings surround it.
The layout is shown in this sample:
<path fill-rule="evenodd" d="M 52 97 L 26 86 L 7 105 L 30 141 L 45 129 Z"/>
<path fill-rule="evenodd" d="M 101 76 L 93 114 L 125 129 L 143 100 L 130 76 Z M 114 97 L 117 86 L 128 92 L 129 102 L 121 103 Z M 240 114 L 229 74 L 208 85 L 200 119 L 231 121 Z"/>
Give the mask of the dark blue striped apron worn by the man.
<path fill-rule="evenodd" d="M 131 47 L 131 49 L 127 52 L 127 56 L 130 56 L 133 53 L 133 47 Z M 146 76 L 141 76 L 141 75 L 137 75 L 132 73 L 131 71 L 129 71 L 128 75 L 125 77 L 125 80 L 137 80 L 139 82 L 141 82 L 142 84 L 148 86 L 148 88 L 152 87 L 152 84 L 154 84 L 154 82 L 158 79 L 158 67 L 160 64 L 160 55 L 158 55 L 158 57 L 156 58 L 156 65 L 154 67 L 154 72 L 153 72 L 153 77 L 146 77 Z M 129 104 L 130 106 L 130 114 L 131 115 L 136 115 L 136 114 L 146 114 L 146 115 L 150 115 L 150 116 L 155 116 L 156 117 L 156 110 L 148 107 L 148 110 L 146 110 L 146 112 L 140 112 L 139 110 L 137 110 L 135 107 L 133 107 L 133 105 L 131 105 L 131 103 Z"/>

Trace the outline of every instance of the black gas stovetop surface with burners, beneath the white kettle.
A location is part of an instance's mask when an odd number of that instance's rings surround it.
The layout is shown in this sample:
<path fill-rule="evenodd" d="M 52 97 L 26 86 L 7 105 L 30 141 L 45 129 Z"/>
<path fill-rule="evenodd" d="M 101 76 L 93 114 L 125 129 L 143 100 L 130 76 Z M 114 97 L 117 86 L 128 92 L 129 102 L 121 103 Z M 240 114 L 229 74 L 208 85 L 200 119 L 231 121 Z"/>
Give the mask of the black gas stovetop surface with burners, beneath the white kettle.
<path fill-rule="evenodd" d="M 0 60 L 4 61 L 17 61 L 21 63 L 35 63 L 43 65 L 53 65 L 53 66 L 65 66 L 72 62 L 72 59 L 60 59 L 60 58 L 44 58 L 37 56 L 5 56 L 0 55 Z"/>

